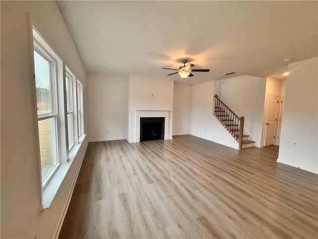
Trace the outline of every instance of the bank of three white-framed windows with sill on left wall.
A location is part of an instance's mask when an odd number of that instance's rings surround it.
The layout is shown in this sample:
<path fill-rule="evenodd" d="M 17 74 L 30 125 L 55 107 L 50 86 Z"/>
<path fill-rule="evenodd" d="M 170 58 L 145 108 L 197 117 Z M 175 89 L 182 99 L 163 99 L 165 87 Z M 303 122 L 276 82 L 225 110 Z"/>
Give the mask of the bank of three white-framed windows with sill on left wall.
<path fill-rule="evenodd" d="M 30 15 L 29 15 L 30 16 Z M 34 86 L 41 167 L 41 209 L 53 202 L 80 148 L 85 147 L 83 131 L 82 85 L 42 37 L 38 24 L 30 16 L 30 62 L 34 67 Z M 42 32 L 42 34 L 44 34 Z M 31 41 L 32 42 L 32 41 Z M 31 66 L 30 66 L 31 67 Z M 78 111 L 79 106 L 79 111 Z M 80 140 L 79 136 L 80 134 Z"/>

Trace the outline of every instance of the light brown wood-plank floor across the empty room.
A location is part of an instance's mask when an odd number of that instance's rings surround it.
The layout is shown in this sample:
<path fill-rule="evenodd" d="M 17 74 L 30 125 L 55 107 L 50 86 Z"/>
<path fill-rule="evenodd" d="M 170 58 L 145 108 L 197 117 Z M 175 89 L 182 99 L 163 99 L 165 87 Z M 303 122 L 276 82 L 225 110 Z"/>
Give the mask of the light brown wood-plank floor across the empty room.
<path fill-rule="evenodd" d="M 318 238 L 318 175 L 277 146 L 173 138 L 90 142 L 59 238 Z"/>

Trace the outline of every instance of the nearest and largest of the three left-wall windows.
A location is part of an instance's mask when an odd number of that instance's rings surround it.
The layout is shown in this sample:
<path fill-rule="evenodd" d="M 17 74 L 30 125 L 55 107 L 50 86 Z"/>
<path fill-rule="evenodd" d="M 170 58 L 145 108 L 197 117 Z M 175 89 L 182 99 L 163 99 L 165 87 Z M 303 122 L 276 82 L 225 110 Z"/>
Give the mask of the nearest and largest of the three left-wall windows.
<path fill-rule="evenodd" d="M 56 61 L 34 39 L 34 70 L 42 184 L 59 166 Z"/>

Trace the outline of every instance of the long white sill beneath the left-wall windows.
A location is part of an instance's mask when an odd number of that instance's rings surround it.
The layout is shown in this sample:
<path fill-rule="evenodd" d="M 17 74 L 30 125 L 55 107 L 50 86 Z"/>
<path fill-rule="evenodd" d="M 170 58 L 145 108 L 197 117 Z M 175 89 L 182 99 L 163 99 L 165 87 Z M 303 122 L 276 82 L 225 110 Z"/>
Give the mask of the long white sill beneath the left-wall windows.
<path fill-rule="evenodd" d="M 67 163 L 62 163 L 60 167 L 56 170 L 54 175 L 51 177 L 50 181 L 46 184 L 45 188 L 43 189 L 43 202 L 41 210 L 48 209 L 53 202 L 53 199 L 57 192 L 59 191 L 62 182 L 67 175 L 75 157 L 79 152 L 79 148 L 84 141 L 86 134 L 83 134 L 79 138 L 79 143 L 74 144 L 71 151 L 70 151 L 70 160 Z"/>

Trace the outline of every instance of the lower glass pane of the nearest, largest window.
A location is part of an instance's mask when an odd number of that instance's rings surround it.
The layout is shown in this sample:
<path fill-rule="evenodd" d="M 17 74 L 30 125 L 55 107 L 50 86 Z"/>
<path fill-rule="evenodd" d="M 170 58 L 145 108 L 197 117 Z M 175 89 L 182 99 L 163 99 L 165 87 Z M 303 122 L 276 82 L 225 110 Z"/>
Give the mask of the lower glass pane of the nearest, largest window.
<path fill-rule="evenodd" d="M 54 124 L 55 118 L 38 121 L 42 179 L 57 164 L 57 155 L 54 153 L 56 151 Z"/>

